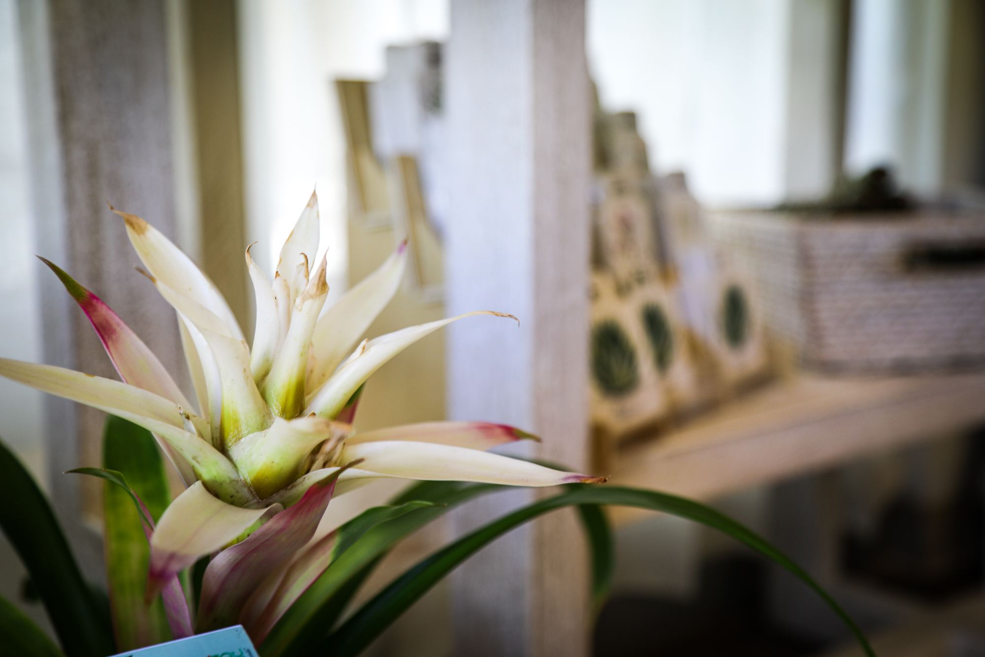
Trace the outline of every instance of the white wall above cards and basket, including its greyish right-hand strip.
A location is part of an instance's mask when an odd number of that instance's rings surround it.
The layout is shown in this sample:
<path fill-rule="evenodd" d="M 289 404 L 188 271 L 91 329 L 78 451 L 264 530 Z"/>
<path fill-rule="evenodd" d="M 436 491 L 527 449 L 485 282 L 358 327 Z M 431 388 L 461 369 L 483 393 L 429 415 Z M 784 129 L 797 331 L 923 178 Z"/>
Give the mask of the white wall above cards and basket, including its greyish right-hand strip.
<path fill-rule="evenodd" d="M 827 190 L 835 2 L 590 0 L 588 7 L 589 66 L 603 107 L 637 112 L 654 169 L 685 171 L 698 198 L 715 206 Z"/>

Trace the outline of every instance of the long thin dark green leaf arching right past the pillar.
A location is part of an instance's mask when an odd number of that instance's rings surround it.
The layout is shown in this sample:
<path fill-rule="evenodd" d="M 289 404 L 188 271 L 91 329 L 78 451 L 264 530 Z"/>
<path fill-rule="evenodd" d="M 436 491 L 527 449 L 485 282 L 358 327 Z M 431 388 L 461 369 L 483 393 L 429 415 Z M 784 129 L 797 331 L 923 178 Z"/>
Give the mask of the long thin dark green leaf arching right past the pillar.
<path fill-rule="evenodd" d="M 855 621 L 841 609 L 841 606 L 803 568 L 756 535 L 755 532 L 698 502 L 653 490 L 617 486 L 579 487 L 555 497 L 540 500 L 490 523 L 450 546 L 444 547 L 405 572 L 376 597 L 363 605 L 353 617 L 344 622 L 317 646 L 320 649 L 315 649 L 313 652 L 331 655 L 331 657 L 355 657 L 383 629 L 419 600 L 430 587 L 480 548 L 537 516 L 563 506 L 581 504 L 633 506 L 651 511 L 663 511 L 724 532 L 772 559 L 814 589 L 834 613 L 848 625 L 866 654 L 875 657 L 876 653 L 869 645 L 865 634 L 855 624 Z M 315 644 L 310 645 L 309 648 L 315 648 Z"/>

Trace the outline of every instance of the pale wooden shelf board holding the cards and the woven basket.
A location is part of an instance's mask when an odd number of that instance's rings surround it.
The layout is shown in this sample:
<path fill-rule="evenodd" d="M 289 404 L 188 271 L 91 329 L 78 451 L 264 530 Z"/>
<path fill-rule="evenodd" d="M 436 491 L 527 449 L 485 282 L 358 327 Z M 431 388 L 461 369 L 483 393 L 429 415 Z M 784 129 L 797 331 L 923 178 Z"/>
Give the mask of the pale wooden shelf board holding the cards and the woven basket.
<path fill-rule="evenodd" d="M 803 374 L 624 448 L 610 480 L 710 499 L 981 421 L 985 374 Z"/>

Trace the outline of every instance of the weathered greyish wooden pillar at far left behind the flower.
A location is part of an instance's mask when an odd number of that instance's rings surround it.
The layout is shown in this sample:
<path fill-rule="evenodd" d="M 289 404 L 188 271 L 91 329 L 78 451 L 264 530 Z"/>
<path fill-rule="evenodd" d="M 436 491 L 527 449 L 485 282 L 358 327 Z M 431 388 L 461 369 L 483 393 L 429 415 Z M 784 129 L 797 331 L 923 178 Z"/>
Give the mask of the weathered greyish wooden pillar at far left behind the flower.
<path fill-rule="evenodd" d="M 174 238 L 164 0 L 24 0 L 19 10 L 38 254 L 96 292 L 177 370 L 174 313 L 134 270 L 122 220 L 106 207 Z M 53 275 L 45 270 L 40 281 L 45 361 L 115 379 L 85 315 Z M 47 400 L 51 497 L 84 569 L 100 579 L 99 540 L 83 517 L 99 513 L 101 487 L 62 473 L 99 466 L 103 417 Z"/>

